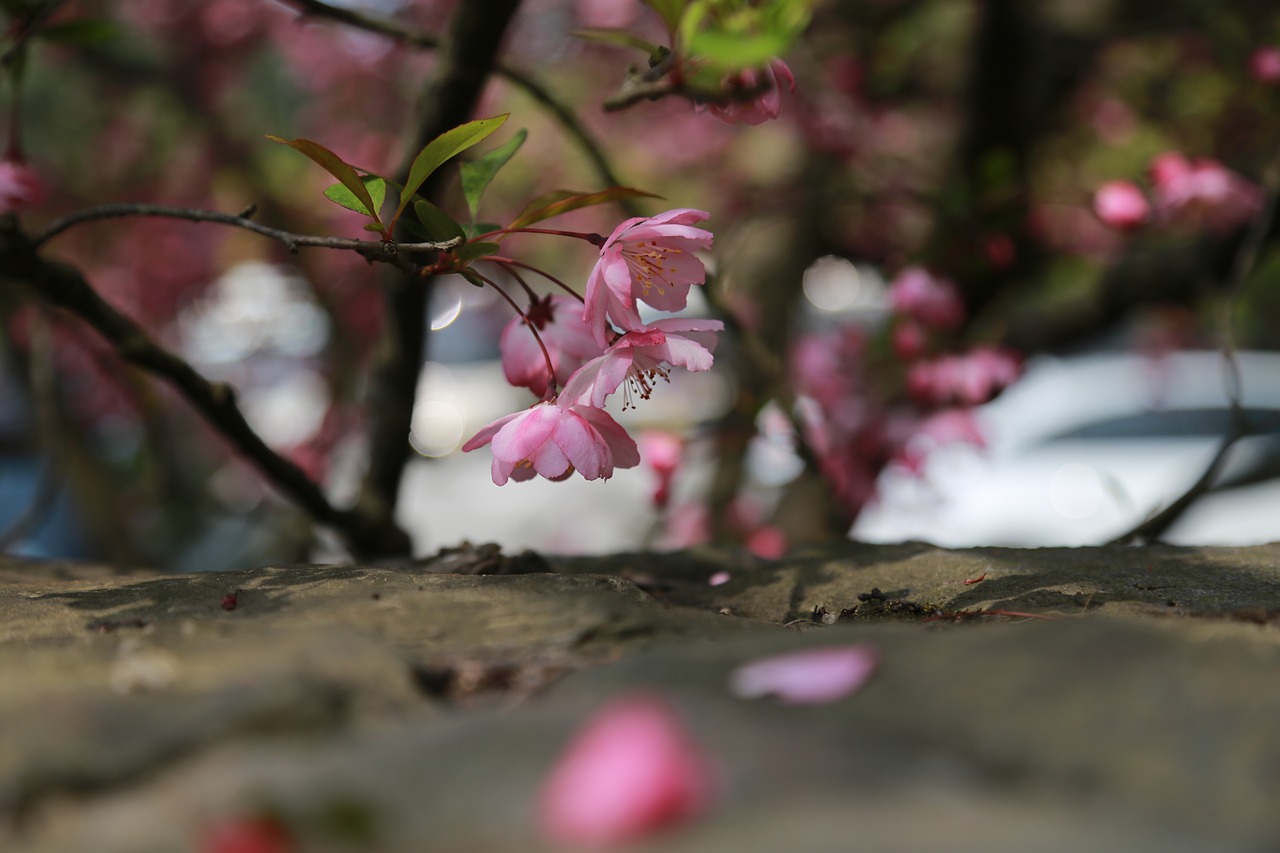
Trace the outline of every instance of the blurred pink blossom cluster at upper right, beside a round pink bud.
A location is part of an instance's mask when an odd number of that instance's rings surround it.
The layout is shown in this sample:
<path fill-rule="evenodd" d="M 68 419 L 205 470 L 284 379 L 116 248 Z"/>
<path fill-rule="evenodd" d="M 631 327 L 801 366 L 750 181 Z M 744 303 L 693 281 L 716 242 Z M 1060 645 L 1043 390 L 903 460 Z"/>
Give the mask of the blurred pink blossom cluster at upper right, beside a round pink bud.
<path fill-rule="evenodd" d="M 1171 222 L 1230 231 L 1262 207 L 1262 191 L 1217 160 L 1166 151 L 1151 164 L 1156 209 Z"/>

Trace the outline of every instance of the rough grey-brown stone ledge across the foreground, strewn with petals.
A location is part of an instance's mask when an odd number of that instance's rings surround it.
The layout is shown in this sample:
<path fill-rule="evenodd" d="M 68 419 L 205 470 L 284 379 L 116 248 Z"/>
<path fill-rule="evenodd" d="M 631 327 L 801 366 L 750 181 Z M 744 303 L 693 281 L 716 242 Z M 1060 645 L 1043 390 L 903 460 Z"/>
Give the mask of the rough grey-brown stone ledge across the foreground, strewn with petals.
<path fill-rule="evenodd" d="M 721 797 L 628 849 L 1270 850 L 1277 613 L 1276 546 L 0 562 L 0 849 L 198 850 L 261 813 L 306 850 L 552 849 L 540 779 L 602 702 L 646 690 Z M 846 699 L 726 690 L 833 642 L 882 657 Z"/>

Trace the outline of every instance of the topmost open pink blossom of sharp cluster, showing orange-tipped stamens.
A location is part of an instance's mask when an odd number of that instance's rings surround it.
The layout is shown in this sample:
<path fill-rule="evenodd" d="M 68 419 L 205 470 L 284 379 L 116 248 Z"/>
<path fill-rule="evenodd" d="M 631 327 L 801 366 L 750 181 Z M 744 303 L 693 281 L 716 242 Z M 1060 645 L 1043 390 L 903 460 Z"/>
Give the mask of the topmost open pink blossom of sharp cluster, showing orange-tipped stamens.
<path fill-rule="evenodd" d="M 704 210 L 681 207 L 627 219 L 613 229 L 586 279 L 582 320 L 596 343 L 608 346 L 609 320 L 623 330 L 640 327 L 636 300 L 662 311 L 685 307 L 689 287 L 707 280 L 694 251 L 709 247 L 712 233 L 694 223 L 708 216 Z"/>

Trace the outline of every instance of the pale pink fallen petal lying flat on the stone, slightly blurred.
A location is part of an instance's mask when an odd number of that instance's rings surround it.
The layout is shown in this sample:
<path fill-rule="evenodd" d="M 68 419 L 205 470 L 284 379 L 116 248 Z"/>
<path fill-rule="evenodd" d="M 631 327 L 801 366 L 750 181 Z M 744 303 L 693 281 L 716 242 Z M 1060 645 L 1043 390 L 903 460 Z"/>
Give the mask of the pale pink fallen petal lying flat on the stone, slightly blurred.
<path fill-rule="evenodd" d="M 858 690 L 876 671 L 870 646 L 827 646 L 763 657 L 733 670 L 730 693 L 740 699 L 774 697 L 783 704 L 835 702 Z"/>

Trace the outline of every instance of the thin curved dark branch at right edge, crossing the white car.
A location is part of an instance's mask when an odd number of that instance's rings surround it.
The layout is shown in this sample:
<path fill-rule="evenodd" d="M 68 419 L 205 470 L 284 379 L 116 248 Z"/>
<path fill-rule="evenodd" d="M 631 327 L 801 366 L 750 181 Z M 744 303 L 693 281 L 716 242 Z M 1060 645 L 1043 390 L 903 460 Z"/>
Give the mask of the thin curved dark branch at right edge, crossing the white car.
<path fill-rule="evenodd" d="M 1244 286 L 1244 279 L 1257 263 L 1262 245 L 1266 242 L 1275 219 L 1277 195 L 1280 195 L 1280 159 L 1271 163 L 1266 174 L 1266 201 L 1262 210 L 1249 223 L 1240 241 L 1240 247 L 1235 252 L 1231 269 L 1228 273 L 1225 287 L 1219 304 L 1219 336 L 1222 347 L 1222 369 L 1226 374 L 1226 394 L 1231 410 L 1231 423 L 1226 434 L 1217 446 L 1213 457 L 1204 466 L 1204 470 L 1190 487 L 1187 488 L 1175 501 L 1160 512 L 1155 514 L 1132 530 L 1116 537 L 1108 544 L 1148 544 L 1155 542 L 1172 524 L 1187 512 L 1188 508 L 1202 496 L 1210 492 L 1222 466 L 1226 456 L 1238 441 L 1251 434 L 1249 419 L 1240 402 L 1242 382 L 1240 365 L 1235 357 L 1235 305 Z"/>

